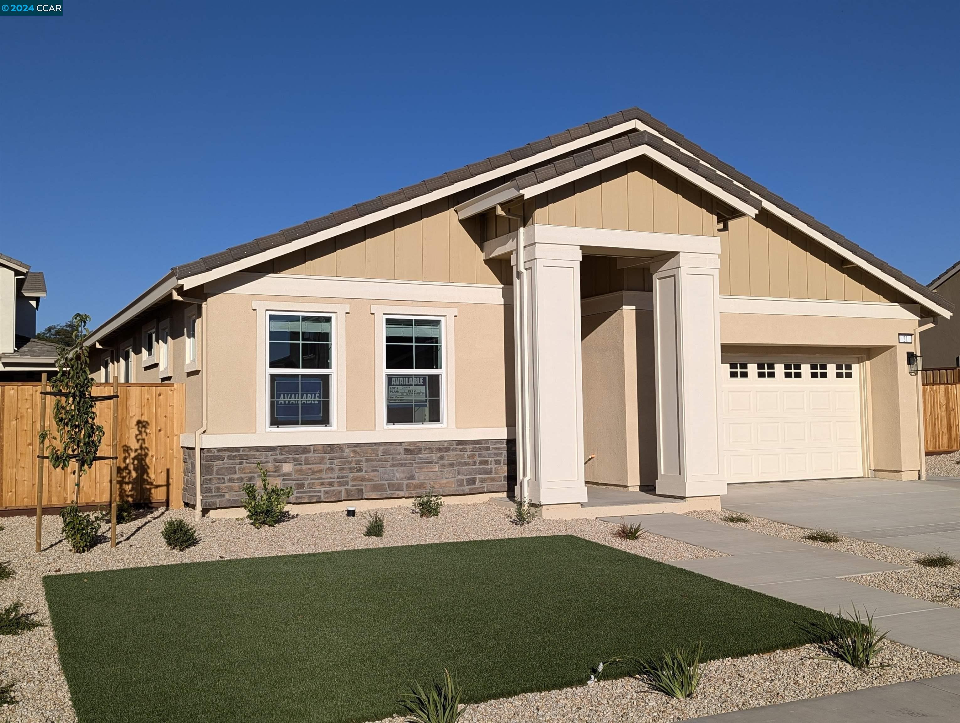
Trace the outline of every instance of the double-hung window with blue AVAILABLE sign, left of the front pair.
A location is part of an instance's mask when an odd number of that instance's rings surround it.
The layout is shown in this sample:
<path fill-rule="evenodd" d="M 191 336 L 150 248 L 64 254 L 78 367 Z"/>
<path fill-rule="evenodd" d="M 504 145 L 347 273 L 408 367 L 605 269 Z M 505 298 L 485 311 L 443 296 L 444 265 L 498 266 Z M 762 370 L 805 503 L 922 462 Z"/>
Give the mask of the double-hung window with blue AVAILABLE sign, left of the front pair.
<path fill-rule="evenodd" d="M 331 426 L 333 318 L 268 314 L 271 427 Z"/>

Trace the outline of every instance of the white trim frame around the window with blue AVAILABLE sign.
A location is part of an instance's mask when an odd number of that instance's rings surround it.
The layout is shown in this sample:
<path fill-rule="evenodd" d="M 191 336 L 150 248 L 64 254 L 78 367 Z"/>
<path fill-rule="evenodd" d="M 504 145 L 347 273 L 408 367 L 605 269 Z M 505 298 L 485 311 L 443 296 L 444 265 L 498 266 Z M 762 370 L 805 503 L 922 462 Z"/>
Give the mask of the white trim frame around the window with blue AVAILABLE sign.
<path fill-rule="evenodd" d="M 291 434 L 306 432 L 327 434 L 346 428 L 347 425 L 347 315 L 350 311 L 346 303 L 297 303 L 294 301 L 252 301 L 256 312 L 256 431 L 264 434 Z M 330 425 L 313 427 L 272 427 L 270 426 L 270 404 L 267 395 L 270 391 L 267 376 L 270 369 L 267 360 L 270 349 L 267 341 L 267 314 L 323 314 L 331 317 L 333 330 L 333 389 L 330 399 Z"/>

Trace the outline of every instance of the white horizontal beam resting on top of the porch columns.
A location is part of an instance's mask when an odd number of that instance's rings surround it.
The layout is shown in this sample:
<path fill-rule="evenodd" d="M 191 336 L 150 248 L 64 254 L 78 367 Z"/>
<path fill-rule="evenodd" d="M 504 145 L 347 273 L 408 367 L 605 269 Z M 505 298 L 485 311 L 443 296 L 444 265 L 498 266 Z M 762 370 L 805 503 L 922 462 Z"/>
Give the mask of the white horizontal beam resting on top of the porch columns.
<path fill-rule="evenodd" d="M 524 227 L 524 247 L 531 244 L 557 244 L 603 250 L 623 255 L 637 252 L 663 253 L 720 253 L 718 236 L 696 236 L 688 233 L 657 233 L 654 231 L 627 231 L 621 229 L 591 229 L 573 226 L 533 224 Z M 509 255 L 516 250 L 516 231 L 505 233 L 483 245 L 485 259 Z"/>

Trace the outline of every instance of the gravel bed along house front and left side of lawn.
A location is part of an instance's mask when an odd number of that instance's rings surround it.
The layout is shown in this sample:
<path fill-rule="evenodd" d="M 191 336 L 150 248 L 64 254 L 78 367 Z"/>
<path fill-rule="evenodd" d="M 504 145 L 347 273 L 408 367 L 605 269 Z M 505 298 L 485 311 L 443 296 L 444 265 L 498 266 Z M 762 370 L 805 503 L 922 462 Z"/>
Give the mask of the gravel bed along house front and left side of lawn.
<path fill-rule="evenodd" d="M 101 543 L 88 553 L 75 555 L 60 535 L 60 518 L 44 516 L 44 551 L 34 552 L 35 518 L 2 518 L 0 560 L 9 560 L 11 579 L 0 581 L 0 607 L 14 600 L 24 611 L 36 612 L 43 627 L 19 636 L 0 636 L 0 679 L 14 682 L 19 703 L 0 707 L 4 723 L 73 723 L 66 680 L 60 670 L 57 643 L 49 625 L 43 594 L 44 575 L 171 565 L 206 560 L 289 555 L 301 552 L 382 547 L 421 542 L 455 542 L 542 535 L 578 535 L 660 562 L 718 557 L 721 553 L 651 533 L 637 541 L 613 537 L 616 525 L 594 519 L 546 520 L 518 527 L 511 522 L 513 510 L 492 502 L 447 505 L 439 518 L 421 519 L 409 508 L 383 511 L 386 534 L 383 538 L 363 536 L 367 518 L 347 518 L 343 512 L 301 515 L 274 528 L 254 530 L 244 519 L 204 518 L 199 522 L 190 510 L 156 510 L 118 527 L 118 545 L 110 550 Z M 167 519 L 182 518 L 196 524 L 201 542 L 185 552 L 167 548 L 160 528 Z"/>

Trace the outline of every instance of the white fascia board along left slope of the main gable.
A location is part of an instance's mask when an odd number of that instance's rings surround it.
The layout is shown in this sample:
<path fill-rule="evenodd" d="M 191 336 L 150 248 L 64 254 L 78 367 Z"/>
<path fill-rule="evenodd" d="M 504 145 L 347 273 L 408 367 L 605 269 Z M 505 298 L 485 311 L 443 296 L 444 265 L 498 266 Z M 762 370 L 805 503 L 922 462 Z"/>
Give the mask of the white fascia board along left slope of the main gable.
<path fill-rule="evenodd" d="M 517 160 L 514 163 L 508 163 L 505 166 L 488 171 L 487 173 L 481 174 L 472 179 L 460 181 L 459 183 L 454 183 L 453 185 L 446 186 L 445 188 L 439 188 L 436 191 L 424 194 L 423 196 L 413 199 L 412 201 L 407 201 L 403 204 L 392 205 L 389 208 L 384 208 L 383 210 L 376 211 L 375 213 L 369 213 L 366 216 L 361 216 L 360 218 L 348 221 L 345 224 L 340 224 L 331 229 L 325 229 L 309 236 L 304 236 L 296 241 L 291 241 L 289 244 L 281 244 L 280 246 L 275 246 L 273 249 L 267 249 L 266 251 L 260 253 L 253 253 L 250 256 L 233 261 L 232 263 L 228 263 L 217 269 L 212 269 L 211 271 L 197 274 L 192 277 L 186 277 L 182 280 L 183 289 L 184 291 L 187 289 L 192 289 L 196 286 L 206 283 L 207 281 L 212 281 L 214 278 L 225 277 L 229 274 L 233 274 L 234 272 L 243 271 L 249 266 L 262 263 L 263 261 L 269 261 L 277 256 L 300 251 L 300 249 L 303 249 L 307 246 L 312 246 L 313 244 L 324 241 L 327 238 L 339 236 L 353 229 L 362 229 L 363 227 L 369 226 L 377 221 L 390 218 L 391 216 L 396 216 L 397 214 L 403 213 L 404 211 L 408 211 L 412 208 L 419 208 L 421 205 L 429 204 L 433 201 L 446 198 L 447 196 L 452 196 L 475 185 L 480 185 L 487 181 L 492 181 L 493 179 L 498 179 L 503 176 L 516 173 L 517 171 L 520 171 L 528 166 L 542 163 L 549 158 L 568 155 L 571 151 L 583 146 L 592 145 L 598 141 L 610 138 L 613 135 L 619 135 L 620 133 L 626 133 L 627 131 L 639 130 L 640 125 L 641 124 L 637 123 L 636 121 L 628 121 L 626 123 L 621 123 L 617 126 L 614 126 L 613 128 L 609 128 L 606 131 L 590 133 L 589 135 L 585 135 L 577 140 L 564 143 L 562 146 L 557 146 L 556 148 L 543 151 L 542 153 L 534 156 Z"/>

